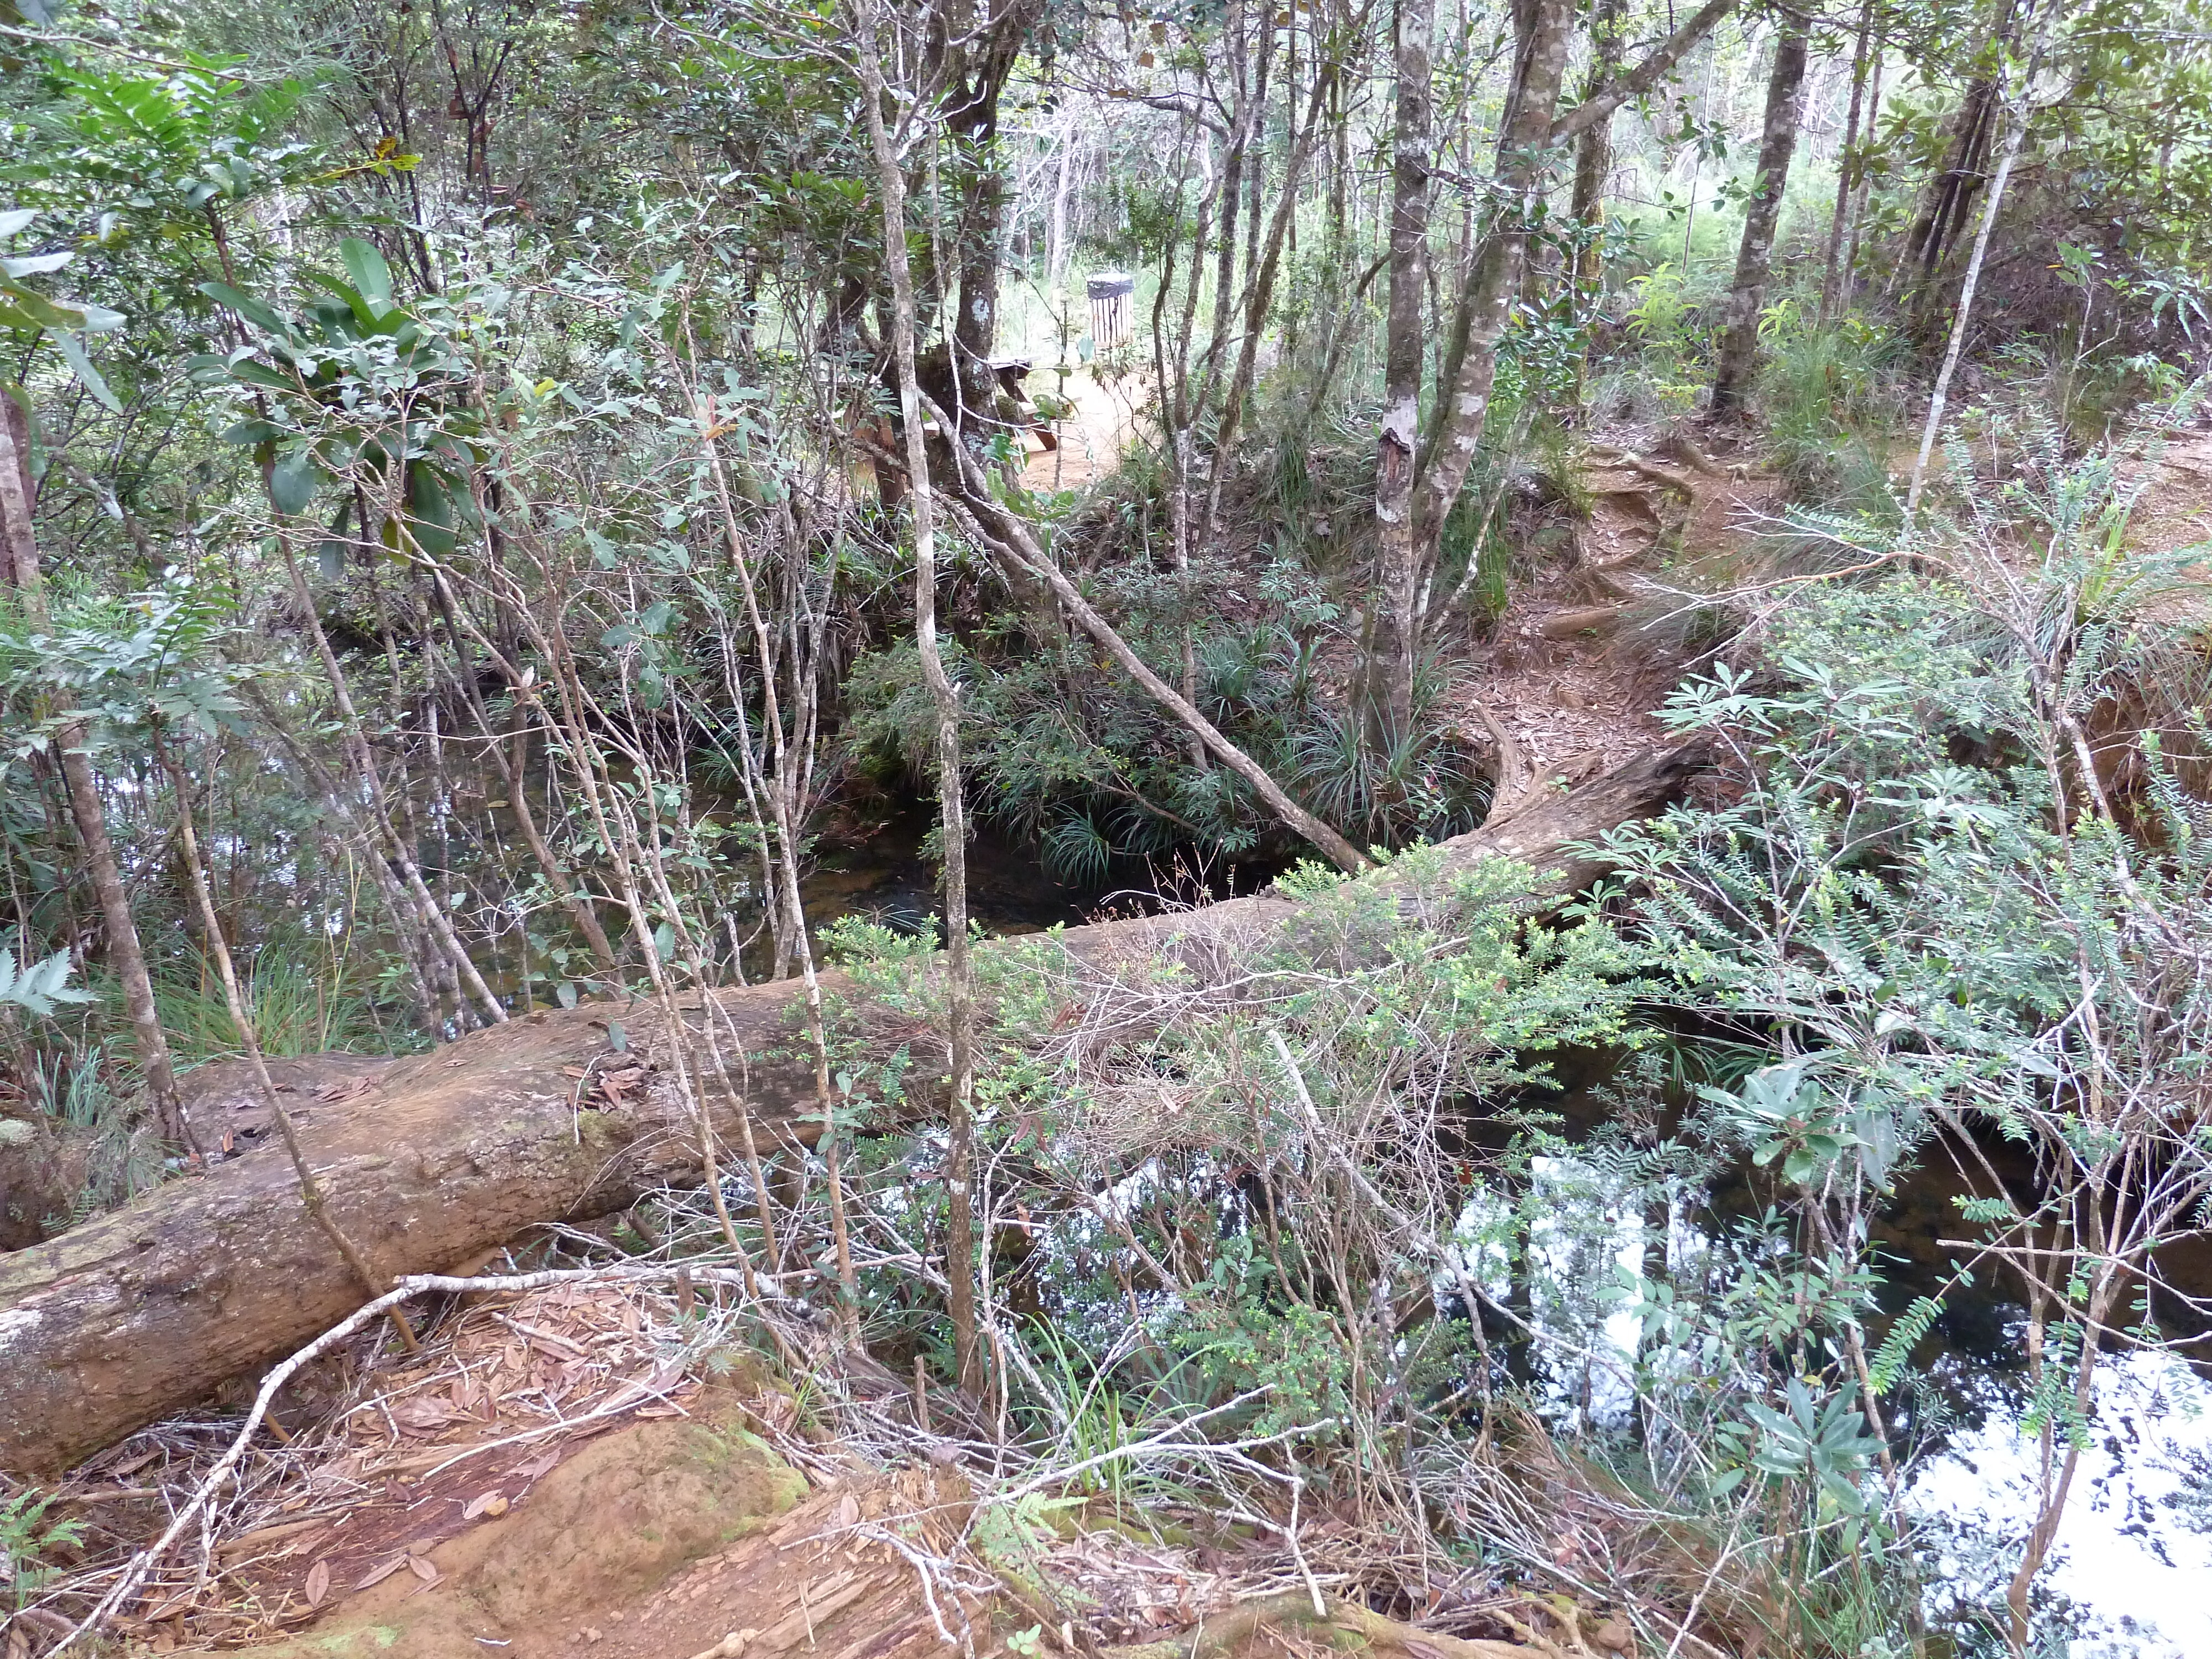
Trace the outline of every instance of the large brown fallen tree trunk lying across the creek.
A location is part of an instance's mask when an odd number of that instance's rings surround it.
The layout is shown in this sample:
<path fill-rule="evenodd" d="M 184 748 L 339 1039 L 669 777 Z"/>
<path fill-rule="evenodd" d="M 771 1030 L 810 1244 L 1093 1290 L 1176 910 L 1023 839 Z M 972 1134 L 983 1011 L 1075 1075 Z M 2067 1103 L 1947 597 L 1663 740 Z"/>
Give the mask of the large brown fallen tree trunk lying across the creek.
<path fill-rule="evenodd" d="M 1648 754 L 1447 843 L 1451 858 L 1564 865 L 1579 885 L 1593 872 L 1566 847 L 1655 812 L 1690 770 L 1681 752 Z M 1060 938 L 1086 962 L 1221 951 L 1279 933 L 1296 909 L 1283 898 L 1237 898 Z M 825 991 L 834 989 L 827 975 Z M 717 1035 L 741 1095 L 708 1102 L 723 1146 L 739 1137 L 741 1115 L 757 1137 L 787 1144 L 816 1110 L 812 1060 L 790 1020 L 799 995 L 796 980 L 714 993 Z M 703 1018 L 692 998 L 686 1024 Z M 619 1044 L 615 1022 L 626 1026 Z M 354 1084 L 367 1093 L 303 1102 L 303 1148 L 332 1214 L 378 1274 L 440 1272 L 531 1225 L 606 1214 L 653 1188 L 699 1181 L 697 1119 L 666 1068 L 635 1093 L 611 1097 L 597 1084 L 604 1071 L 666 1055 L 672 1040 L 695 1055 L 701 1048 L 697 1031 L 668 1031 L 650 1004 L 511 1020 L 389 1062 L 372 1084 Z M 692 1075 L 701 1071 L 695 1062 Z M 296 1349 L 361 1301 L 358 1279 L 307 1219 L 276 1146 L 0 1256 L 0 1469 L 62 1469 Z"/>

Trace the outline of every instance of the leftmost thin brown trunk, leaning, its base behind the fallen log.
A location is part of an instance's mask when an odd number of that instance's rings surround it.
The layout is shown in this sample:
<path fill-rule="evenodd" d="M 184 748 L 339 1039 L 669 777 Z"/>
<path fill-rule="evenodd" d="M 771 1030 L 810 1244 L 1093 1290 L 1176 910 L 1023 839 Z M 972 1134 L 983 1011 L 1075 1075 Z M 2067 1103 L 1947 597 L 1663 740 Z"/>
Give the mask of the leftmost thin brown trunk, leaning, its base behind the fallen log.
<path fill-rule="evenodd" d="M 7 560 L 9 584 L 20 595 L 24 615 L 40 633 L 51 633 L 46 613 L 46 584 L 38 568 L 38 538 L 31 524 L 31 431 L 29 420 L 15 398 L 0 394 L 0 553 Z M 66 690 L 55 690 L 58 714 L 75 710 Z M 77 845 L 84 849 L 84 874 L 93 883 L 93 898 L 100 902 L 102 931 L 106 933 L 108 967 L 124 987 L 124 1009 L 131 1015 L 131 1037 L 137 1046 L 139 1071 L 146 1077 L 146 1095 L 153 1102 L 161 1139 L 199 1152 L 190 1117 L 177 1097 L 177 1071 L 168 1057 L 168 1037 L 161 1035 L 161 1015 L 153 1000 L 153 975 L 146 971 L 146 949 L 139 942 L 137 922 L 131 918 L 131 889 L 124 887 L 122 867 L 115 863 L 115 845 L 108 841 L 108 814 L 100 799 L 100 779 L 93 776 L 88 741 L 82 721 L 64 721 L 53 734 L 53 752 L 62 768 L 62 785 L 69 794 L 69 816 L 77 827 Z"/>

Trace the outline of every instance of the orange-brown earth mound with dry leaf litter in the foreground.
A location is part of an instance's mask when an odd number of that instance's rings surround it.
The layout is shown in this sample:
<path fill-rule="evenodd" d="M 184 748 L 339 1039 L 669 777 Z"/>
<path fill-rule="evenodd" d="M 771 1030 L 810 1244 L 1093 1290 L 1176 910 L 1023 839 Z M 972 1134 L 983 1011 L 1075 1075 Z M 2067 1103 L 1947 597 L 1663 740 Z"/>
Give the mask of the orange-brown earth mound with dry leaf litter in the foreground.
<path fill-rule="evenodd" d="M 1064 1504 L 1002 1526 L 1013 1544 L 991 1562 L 951 1458 L 887 1469 L 750 1363 L 714 1376 L 672 1358 L 699 1329 L 659 1290 L 562 1285 L 449 1312 L 405 1365 L 325 1371 L 288 1398 L 296 1433 L 252 1460 L 250 1498 L 117 1621 L 122 1652 L 1325 1659 L 1356 1635 L 1389 1659 L 1559 1659 L 1540 1635 L 1559 1610 L 1511 1595 L 1449 1610 L 1462 1630 L 1504 1632 L 1471 1641 L 1358 1606 L 1316 1624 L 1321 1586 L 1349 1588 L 1327 1540 L 1354 1528 L 1327 1515 L 1307 1522 L 1310 1582 L 1281 1548 L 1148 1537 Z M 869 1371 L 883 1389 L 869 1416 L 905 1420 L 891 1438 L 911 1440 L 911 1398 Z M 175 1451 L 153 1429 L 77 1484 L 135 1491 L 124 1482 L 148 1480 L 135 1464 Z M 212 1453 L 188 1451 L 168 1480 Z M 1075 1619 L 1053 1628 L 1048 1606 Z M 1624 1650 L 1624 1624 L 1590 1626 L 1599 1659 Z M 1026 1644 L 1004 1641 L 1024 1628 Z"/>

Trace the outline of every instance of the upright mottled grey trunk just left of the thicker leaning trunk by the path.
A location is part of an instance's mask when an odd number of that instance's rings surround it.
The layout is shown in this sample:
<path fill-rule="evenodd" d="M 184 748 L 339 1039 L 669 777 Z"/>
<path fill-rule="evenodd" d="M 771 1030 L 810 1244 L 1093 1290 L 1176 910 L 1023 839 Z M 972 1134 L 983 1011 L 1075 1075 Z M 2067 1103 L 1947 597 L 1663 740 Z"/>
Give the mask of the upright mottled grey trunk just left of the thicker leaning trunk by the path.
<path fill-rule="evenodd" d="M 1436 0 L 1398 0 L 1398 119 L 1391 142 L 1389 301 L 1383 334 L 1383 431 L 1376 440 L 1376 615 L 1367 672 L 1367 737 L 1380 752 L 1413 730 L 1413 460 L 1427 354 L 1429 177 L 1436 142 L 1429 38 Z"/>

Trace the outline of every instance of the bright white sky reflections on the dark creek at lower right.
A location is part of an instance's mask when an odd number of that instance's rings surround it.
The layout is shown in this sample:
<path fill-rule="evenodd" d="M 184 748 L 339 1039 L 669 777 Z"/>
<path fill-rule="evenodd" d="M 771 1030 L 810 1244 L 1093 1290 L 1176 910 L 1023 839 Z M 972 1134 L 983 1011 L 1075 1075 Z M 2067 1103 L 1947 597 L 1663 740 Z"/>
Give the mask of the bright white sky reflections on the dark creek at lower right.
<path fill-rule="evenodd" d="M 1537 1157 L 1522 1199 L 1522 1276 L 1509 1241 L 1515 1203 L 1480 1194 L 1458 1245 L 1480 1294 L 1526 1318 L 1537 1343 L 1528 1376 L 1564 1429 L 1624 1429 L 1637 1411 L 1646 1327 L 1606 1285 L 1661 1272 L 1674 1285 L 1717 1263 L 1714 1214 L 1681 1197 L 1646 1208 L 1648 1192 L 1604 1159 Z M 1907 1175 L 1876 1230 L 1891 1312 L 1938 1290 L 1933 1272 L 1955 1250 L 1955 1186 Z M 2168 1276 L 2174 1276 L 2168 1263 Z M 2201 1265 L 2190 1252 L 2188 1265 Z M 2203 1285 L 2183 1283 L 2183 1290 Z M 1458 1301 L 1440 1276 L 1440 1301 Z M 1947 1312 L 1916 1354 L 1922 1376 L 1893 1402 L 1891 1427 L 1920 1449 L 1907 1509 L 1927 1531 L 1929 1619 L 1962 1637 L 1962 1652 L 2000 1652 L 1975 1639 L 1975 1610 L 2002 1610 L 2013 1568 L 2039 1511 L 2039 1444 L 2026 1418 L 2026 1325 L 1989 1287 L 1951 1287 Z M 2168 1329 L 2170 1340 L 2201 1338 Z M 2059 1455 L 2064 1455 L 2064 1431 Z M 2212 1659 L 2212 1376 L 2179 1354 L 2108 1354 L 2081 1433 L 2081 1462 L 2057 1546 L 2035 1588 L 2037 1628 L 2064 1630 L 2066 1659 Z"/>

